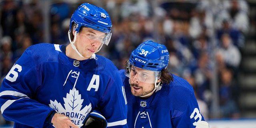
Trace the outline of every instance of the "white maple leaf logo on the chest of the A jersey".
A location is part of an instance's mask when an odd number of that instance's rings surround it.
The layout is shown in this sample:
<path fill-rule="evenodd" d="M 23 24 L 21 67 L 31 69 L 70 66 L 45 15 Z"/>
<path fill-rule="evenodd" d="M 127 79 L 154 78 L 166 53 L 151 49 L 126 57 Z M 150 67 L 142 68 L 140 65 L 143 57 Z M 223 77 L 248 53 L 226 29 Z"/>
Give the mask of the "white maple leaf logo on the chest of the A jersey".
<path fill-rule="evenodd" d="M 63 98 L 63 100 L 65 102 L 64 107 L 57 100 L 50 100 L 49 106 L 59 114 L 68 116 L 74 124 L 80 125 L 92 110 L 91 103 L 82 108 L 82 102 L 84 99 L 81 99 L 81 94 L 79 94 L 79 91 L 76 90 L 76 88 L 70 90 L 69 93 L 67 93 L 66 98 Z"/>

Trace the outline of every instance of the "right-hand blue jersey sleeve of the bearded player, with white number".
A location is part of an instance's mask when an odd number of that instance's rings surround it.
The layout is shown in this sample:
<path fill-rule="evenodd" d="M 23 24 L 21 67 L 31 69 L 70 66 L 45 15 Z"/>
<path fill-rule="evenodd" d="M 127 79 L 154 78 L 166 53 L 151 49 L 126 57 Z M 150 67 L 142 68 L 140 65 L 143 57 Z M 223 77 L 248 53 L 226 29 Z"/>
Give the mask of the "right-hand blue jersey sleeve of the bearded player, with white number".
<path fill-rule="evenodd" d="M 177 113 L 181 112 L 174 113 L 178 115 Z M 177 118 L 173 118 L 172 123 L 176 128 L 196 128 L 197 123 L 201 120 L 204 121 L 204 117 L 200 113 L 195 95 L 192 94 L 186 110 Z"/>

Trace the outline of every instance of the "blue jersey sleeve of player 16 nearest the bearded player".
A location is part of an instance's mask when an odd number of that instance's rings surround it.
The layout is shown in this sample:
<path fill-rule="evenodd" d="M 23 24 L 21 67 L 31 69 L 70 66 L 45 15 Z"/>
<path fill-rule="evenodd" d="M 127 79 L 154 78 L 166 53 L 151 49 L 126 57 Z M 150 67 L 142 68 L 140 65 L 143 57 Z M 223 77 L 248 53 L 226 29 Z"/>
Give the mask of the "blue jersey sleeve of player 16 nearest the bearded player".
<path fill-rule="evenodd" d="M 124 86 L 118 72 L 116 72 L 115 78 L 108 82 L 100 104 L 104 106 L 100 109 L 108 122 L 108 128 L 128 128 Z"/>

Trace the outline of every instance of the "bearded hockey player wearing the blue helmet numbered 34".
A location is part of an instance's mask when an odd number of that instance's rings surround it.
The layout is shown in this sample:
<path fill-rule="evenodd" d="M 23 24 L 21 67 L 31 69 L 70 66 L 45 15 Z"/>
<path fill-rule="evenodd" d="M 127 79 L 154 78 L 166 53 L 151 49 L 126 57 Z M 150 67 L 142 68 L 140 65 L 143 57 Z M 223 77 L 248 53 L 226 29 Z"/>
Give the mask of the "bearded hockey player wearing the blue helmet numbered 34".
<path fill-rule="evenodd" d="M 208 125 L 192 86 L 168 72 L 168 62 L 166 47 L 147 40 L 132 51 L 126 69 L 119 71 L 127 99 L 129 128 L 196 128 L 201 121 L 198 128 Z"/>

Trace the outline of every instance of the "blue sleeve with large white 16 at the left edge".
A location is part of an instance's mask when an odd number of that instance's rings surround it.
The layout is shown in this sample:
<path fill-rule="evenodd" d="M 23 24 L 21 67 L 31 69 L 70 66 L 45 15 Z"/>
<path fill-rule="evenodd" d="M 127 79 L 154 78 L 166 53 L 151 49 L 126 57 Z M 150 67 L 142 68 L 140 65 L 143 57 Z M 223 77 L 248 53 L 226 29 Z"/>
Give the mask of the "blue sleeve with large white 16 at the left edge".
<path fill-rule="evenodd" d="M 6 120 L 34 128 L 43 127 L 46 116 L 53 109 L 34 100 L 34 94 L 41 86 L 38 68 L 27 49 L 4 78 L 0 88 L 0 106 Z"/>

